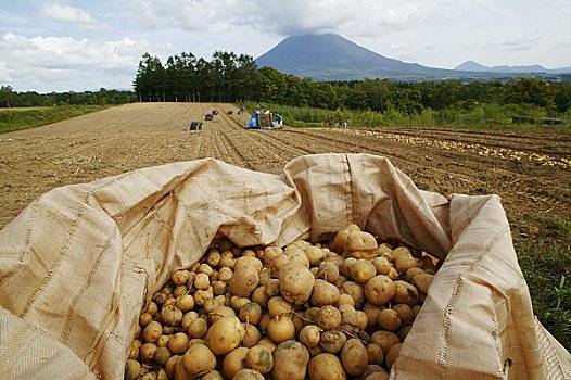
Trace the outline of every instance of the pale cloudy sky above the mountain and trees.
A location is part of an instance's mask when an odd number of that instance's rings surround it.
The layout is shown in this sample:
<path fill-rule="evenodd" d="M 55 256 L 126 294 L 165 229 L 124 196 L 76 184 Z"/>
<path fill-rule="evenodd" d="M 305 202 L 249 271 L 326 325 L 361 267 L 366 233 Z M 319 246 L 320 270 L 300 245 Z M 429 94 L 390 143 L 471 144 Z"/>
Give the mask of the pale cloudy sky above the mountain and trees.
<path fill-rule="evenodd" d="M 302 33 L 433 67 L 557 68 L 571 66 L 570 20 L 570 0 L 0 0 L 0 86 L 126 89 L 144 52 L 257 58 Z"/>

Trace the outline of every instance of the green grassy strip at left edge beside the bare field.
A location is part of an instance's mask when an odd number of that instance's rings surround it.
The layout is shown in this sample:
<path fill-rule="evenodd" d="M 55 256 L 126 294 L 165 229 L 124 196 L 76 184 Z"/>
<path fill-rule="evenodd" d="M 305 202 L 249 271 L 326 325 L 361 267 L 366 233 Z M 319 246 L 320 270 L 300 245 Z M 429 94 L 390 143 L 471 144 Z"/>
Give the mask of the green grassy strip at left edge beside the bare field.
<path fill-rule="evenodd" d="M 5 110 L 0 112 L 0 134 L 39 127 L 100 111 L 103 105 L 62 105 L 46 109 Z"/>

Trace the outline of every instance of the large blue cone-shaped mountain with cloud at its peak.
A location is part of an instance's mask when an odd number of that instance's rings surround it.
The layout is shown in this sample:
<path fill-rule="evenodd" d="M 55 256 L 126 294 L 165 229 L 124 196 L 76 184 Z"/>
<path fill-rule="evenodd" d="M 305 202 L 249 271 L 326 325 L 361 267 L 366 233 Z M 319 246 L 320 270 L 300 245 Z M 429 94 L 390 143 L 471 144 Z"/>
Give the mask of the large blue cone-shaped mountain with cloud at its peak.
<path fill-rule="evenodd" d="M 454 73 L 390 59 L 365 49 L 339 35 L 301 35 L 282 40 L 256 59 L 258 67 L 316 80 L 365 77 L 416 78 Z"/>

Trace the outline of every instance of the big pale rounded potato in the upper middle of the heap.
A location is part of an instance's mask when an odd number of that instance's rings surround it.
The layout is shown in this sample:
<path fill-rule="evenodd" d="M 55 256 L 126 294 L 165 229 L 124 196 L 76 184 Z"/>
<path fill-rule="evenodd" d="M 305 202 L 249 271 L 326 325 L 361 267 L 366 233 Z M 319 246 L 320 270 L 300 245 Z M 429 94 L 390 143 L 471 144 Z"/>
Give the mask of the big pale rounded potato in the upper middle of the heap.
<path fill-rule="evenodd" d="M 295 262 L 288 263 L 280 269 L 279 280 L 281 296 L 286 301 L 294 305 L 303 305 L 309 300 L 315 277 L 305 266 Z"/>

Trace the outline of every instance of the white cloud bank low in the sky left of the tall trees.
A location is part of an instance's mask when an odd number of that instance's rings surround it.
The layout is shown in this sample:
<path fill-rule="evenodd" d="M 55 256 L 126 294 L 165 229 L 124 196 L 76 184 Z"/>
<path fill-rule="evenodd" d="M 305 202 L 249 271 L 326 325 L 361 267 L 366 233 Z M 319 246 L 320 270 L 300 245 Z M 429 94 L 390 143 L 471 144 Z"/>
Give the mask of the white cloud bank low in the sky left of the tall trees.
<path fill-rule="evenodd" d="M 130 38 L 94 41 L 5 34 L 0 39 L 0 83 L 36 91 L 127 88 L 147 47 Z"/>

